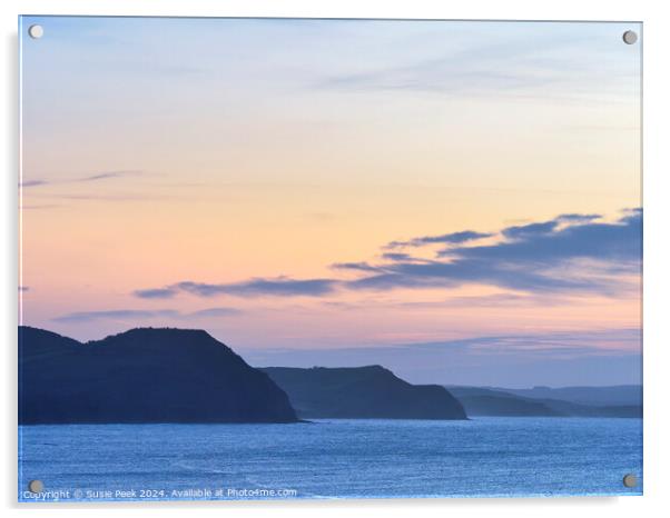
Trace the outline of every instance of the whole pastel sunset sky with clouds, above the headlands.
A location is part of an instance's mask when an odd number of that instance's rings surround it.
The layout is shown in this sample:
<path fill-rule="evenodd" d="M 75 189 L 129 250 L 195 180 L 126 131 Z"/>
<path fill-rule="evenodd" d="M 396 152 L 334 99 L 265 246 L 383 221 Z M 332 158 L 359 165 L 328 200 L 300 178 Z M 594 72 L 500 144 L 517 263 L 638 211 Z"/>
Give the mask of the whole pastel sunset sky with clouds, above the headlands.
<path fill-rule="evenodd" d="M 21 322 L 413 382 L 640 382 L 629 29 L 24 17 Z"/>

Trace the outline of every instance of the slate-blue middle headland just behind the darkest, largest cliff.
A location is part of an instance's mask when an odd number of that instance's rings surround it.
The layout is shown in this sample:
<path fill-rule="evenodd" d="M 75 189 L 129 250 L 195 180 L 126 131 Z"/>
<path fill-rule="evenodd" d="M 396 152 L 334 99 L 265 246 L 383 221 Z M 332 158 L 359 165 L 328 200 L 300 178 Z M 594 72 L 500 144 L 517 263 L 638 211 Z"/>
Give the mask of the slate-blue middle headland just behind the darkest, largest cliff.
<path fill-rule="evenodd" d="M 304 418 L 467 419 L 444 387 L 411 385 L 380 366 L 262 369 Z"/>

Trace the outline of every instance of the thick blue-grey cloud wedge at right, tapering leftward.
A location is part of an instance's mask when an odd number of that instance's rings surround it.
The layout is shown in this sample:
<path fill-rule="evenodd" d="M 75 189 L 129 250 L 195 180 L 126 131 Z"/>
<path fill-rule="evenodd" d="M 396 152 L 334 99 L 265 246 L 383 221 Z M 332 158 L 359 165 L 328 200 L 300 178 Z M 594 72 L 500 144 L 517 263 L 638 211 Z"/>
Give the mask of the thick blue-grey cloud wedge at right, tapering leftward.
<path fill-rule="evenodd" d="M 509 227 L 493 245 L 449 247 L 436 260 L 386 265 L 347 287 L 388 290 L 481 283 L 529 292 L 613 296 L 627 288 L 618 275 L 639 275 L 642 212 L 629 211 L 610 223 L 592 219 L 572 215 Z M 565 221 L 571 223 L 565 226 Z"/>

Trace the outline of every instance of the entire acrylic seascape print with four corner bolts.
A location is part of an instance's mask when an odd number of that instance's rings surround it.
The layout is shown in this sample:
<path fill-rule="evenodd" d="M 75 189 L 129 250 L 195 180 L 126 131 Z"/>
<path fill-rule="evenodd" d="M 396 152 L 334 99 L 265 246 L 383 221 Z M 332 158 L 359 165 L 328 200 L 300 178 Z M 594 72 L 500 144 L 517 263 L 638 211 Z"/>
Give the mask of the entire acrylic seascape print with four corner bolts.
<path fill-rule="evenodd" d="M 19 500 L 640 495 L 641 37 L 21 18 Z"/>

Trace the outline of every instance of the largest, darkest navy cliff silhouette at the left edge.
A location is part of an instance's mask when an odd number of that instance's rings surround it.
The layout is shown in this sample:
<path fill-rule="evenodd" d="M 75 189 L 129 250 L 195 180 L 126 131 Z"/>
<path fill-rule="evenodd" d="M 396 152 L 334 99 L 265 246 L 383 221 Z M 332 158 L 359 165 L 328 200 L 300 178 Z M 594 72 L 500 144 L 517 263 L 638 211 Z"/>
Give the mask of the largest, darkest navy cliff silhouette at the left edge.
<path fill-rule="evenodd" d="M 19 327 L 19 424 L 295 421 L 286 394 L 205 331 L 81 343 Z"/>

